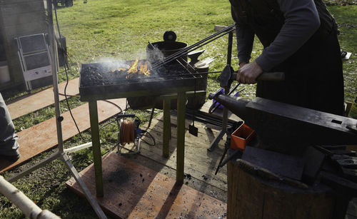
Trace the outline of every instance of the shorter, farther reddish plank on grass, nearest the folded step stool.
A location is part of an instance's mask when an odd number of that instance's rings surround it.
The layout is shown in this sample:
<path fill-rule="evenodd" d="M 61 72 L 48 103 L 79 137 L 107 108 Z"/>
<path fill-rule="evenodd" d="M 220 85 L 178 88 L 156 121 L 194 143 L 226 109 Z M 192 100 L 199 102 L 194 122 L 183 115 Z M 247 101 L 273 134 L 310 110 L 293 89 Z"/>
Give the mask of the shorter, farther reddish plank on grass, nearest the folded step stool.
<path fill-rule="evenodd" d="M 59 83 L 59 93 L 64 93 L 64 87 L 66 86 L 66 81 Z M 69 96 L 74 96 L 79 94 L 79 78 L 75 78 L 69 81 L 66 93 Z M 26 96 L 21 96 L 21 98 L 16 98 L 9 101 L 7 108 L 9 109 L 12 119 L 24 116 L 27 113 L 37 111 L 46 106 L 54 104 L 54 88 L 47 88 L 44 91 L 38 93 L 31 93 Z M 64 100 L 64 96 L 60 95 L 59 100 Z"/>

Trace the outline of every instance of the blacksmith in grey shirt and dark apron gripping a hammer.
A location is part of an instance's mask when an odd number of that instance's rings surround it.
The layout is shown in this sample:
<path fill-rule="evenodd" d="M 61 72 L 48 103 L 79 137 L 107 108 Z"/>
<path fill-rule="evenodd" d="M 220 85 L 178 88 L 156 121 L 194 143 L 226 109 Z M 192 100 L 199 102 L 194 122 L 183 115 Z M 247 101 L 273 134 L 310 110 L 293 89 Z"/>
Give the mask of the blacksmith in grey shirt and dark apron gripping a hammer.
<path fill-rule="evenodd" d="M 283 82 L 259 81 L 256 96 L 343 115 L 343 73 L 337 25 L 322 0 L 230 0 L 236 22 L 237 81 L 263 71 Z M 263 52 L 250 62 L 254 34 Z"/>

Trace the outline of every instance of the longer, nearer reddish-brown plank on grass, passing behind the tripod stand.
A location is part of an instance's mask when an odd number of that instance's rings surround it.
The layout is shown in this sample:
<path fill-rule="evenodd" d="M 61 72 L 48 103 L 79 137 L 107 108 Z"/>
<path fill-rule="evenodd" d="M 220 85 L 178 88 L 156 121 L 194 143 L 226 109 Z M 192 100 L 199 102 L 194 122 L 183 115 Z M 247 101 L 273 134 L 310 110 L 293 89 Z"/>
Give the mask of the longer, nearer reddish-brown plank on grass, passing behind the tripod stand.
<path fill-rule="evenodd" d="M 116 103 L 117 105 L 124 108 L 126 99 L 112 99 L 111 102 Z M 80 131 L 85 131 L 90 128 L 88 108 L 88 103 L 86 103 L 82 106 L 72 109 L 72 113 L 76 119 L 76 123 L 79 126 Z M 114 116 L 119 112 L 119 109 L 111 103 L 106 103 L 104 101 L 98 102 L 98 114 L 100 122 L 106 121 L 106 119 Z M 68 111 L 63 113 L 61 116 L 64 117 L 64 121 L 62 121 L 61 125 L 63 139 L 66 141 L 67 139 L 75 136 L 78 131 L 76 130 L 74 121 L 72 120 Z M 24 131 L 17 133 L 19 136 L 19 151 L 21 153 L 21 158 L 15 163 L 9 163 L 7 161 L 1 160 L 0 173 L 4 172 L 5 170 L 14 168 L 15 166 L 28 161 L 30 158 L 39 155 L 44 151 L 54 148 L 57 145 L 55 119 L 56 118 L 50 118 L 49 120 L 39 123 L 36 126 L 26 128 Z"/>

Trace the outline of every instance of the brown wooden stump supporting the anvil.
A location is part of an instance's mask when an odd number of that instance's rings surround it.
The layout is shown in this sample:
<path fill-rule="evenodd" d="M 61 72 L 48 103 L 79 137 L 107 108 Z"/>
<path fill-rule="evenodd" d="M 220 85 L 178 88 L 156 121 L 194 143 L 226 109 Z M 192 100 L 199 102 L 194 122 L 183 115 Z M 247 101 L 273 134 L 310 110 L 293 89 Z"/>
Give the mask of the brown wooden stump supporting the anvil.
<path fill-rule="evenodd" d="M 266 180 L 228 162 L 227 218 L 332 218 L 331 188 L 300 189 Z"/>

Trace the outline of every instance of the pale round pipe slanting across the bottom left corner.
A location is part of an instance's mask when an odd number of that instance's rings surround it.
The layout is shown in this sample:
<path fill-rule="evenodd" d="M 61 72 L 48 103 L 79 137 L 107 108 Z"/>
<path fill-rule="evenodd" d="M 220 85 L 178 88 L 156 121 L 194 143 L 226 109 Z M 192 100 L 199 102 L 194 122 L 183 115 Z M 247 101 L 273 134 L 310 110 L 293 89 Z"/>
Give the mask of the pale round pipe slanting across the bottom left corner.
<path fill-rule="evenodd" d="M 59 216 L 49 210 L 41 210 L 31 199 L 0 175 L 0 193 L 14 203 L 27 218 L 57 219 Z"/>

